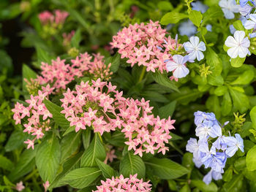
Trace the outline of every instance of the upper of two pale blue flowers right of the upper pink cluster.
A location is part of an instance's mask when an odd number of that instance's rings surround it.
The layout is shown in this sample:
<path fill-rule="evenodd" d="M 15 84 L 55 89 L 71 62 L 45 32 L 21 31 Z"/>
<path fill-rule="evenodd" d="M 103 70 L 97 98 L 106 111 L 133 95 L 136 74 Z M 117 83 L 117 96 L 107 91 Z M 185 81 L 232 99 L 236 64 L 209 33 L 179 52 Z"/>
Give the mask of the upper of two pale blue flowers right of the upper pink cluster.
<path fill-rule="evenodd" d="M 184 43 L 184 49 L 189 53 L 189 59 L 201 61 L 204 58 L 202 51 L 206 50 L 204 42 L 199 42 L 198 37 L 190 37 L 190 42 Z"/>

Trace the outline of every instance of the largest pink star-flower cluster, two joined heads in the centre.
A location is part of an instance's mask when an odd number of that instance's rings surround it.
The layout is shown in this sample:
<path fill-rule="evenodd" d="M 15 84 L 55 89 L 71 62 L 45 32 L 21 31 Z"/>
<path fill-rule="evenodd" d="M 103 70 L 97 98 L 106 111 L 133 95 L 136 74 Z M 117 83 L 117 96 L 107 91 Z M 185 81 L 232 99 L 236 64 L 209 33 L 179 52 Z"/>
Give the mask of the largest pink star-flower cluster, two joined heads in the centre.
<path fill-rule="evenodd" d="M 110 82 L 81 82 L 75 91 L 68 89 L 61 102 L 61 113 L 75 131 L 92 127 L 94 132 L 103 134 L 120 128 L 128 139 L 128 150 L 135 150 L 135 154 L 154 154 L 155 150 L 165 154 L 168 150 L 165 143 L 171 138 L 175 120 L 154 118 L 149 101 L 125 99 Z"/>

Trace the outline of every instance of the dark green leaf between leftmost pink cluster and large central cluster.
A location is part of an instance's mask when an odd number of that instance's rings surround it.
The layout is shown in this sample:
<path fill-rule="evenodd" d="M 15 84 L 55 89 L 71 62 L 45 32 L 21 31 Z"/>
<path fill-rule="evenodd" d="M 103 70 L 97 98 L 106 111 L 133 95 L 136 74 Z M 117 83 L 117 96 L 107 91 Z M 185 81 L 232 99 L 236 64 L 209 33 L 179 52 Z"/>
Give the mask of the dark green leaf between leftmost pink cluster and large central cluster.
<path fill-rule="evenodd" d="M 53 115 L 53 120 L 55 120 L 55 122 L 58 123 L 59 126 L 61 126 L 62 128 L 69 128 L 70 123 L 65 118 L 65 116 L 61 114 L 61 111 L 63 110 L 61 107 L 53 104 L 53 102 L 49 101 L 48 99 L 44 100 L 44 104 L 49 112 Z"/>

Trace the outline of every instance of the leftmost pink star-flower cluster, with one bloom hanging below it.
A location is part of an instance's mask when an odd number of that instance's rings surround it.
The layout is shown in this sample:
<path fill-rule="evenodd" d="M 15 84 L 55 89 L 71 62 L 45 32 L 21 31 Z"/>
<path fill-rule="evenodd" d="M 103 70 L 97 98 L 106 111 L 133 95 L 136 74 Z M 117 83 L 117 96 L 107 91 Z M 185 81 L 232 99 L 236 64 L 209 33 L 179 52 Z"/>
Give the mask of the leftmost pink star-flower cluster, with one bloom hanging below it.
<path fill-rule="evenodd" d="M 41 139 L 44 136 L 44 132 L 50 129 L 50 118 L 52 118 L 53 115 L 47 110 L 43 103 L 43 100 L 47 96 L 47 93 L 38 91 L 37 96 L 31 95 L 30 99 L 26 100 L 28 107 L 17 102 L 15 108 L 12 109 L 15 124 L 22 124 L 25 127 L 23 132 L 35 136 L 34 139 L 28 139 L 24 142 L 28 145 L 28 149 L 30 147 L 34 149 L 35 139 Z M 21 123 L 22 119 L 24 120 Z"/>

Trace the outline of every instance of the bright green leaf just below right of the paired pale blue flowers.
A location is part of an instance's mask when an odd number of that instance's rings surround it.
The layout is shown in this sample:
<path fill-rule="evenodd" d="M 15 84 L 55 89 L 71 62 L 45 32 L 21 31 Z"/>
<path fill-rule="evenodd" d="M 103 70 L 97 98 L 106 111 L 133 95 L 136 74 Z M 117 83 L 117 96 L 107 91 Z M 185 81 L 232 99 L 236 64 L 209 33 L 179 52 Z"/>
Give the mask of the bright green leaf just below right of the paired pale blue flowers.
<path fill-rule="evenodd" d="M 206 49 L 206 63 L 210 66 L 211 75 L 218 76 L 222 72 L 222 60 L 211 47 Z"/>

